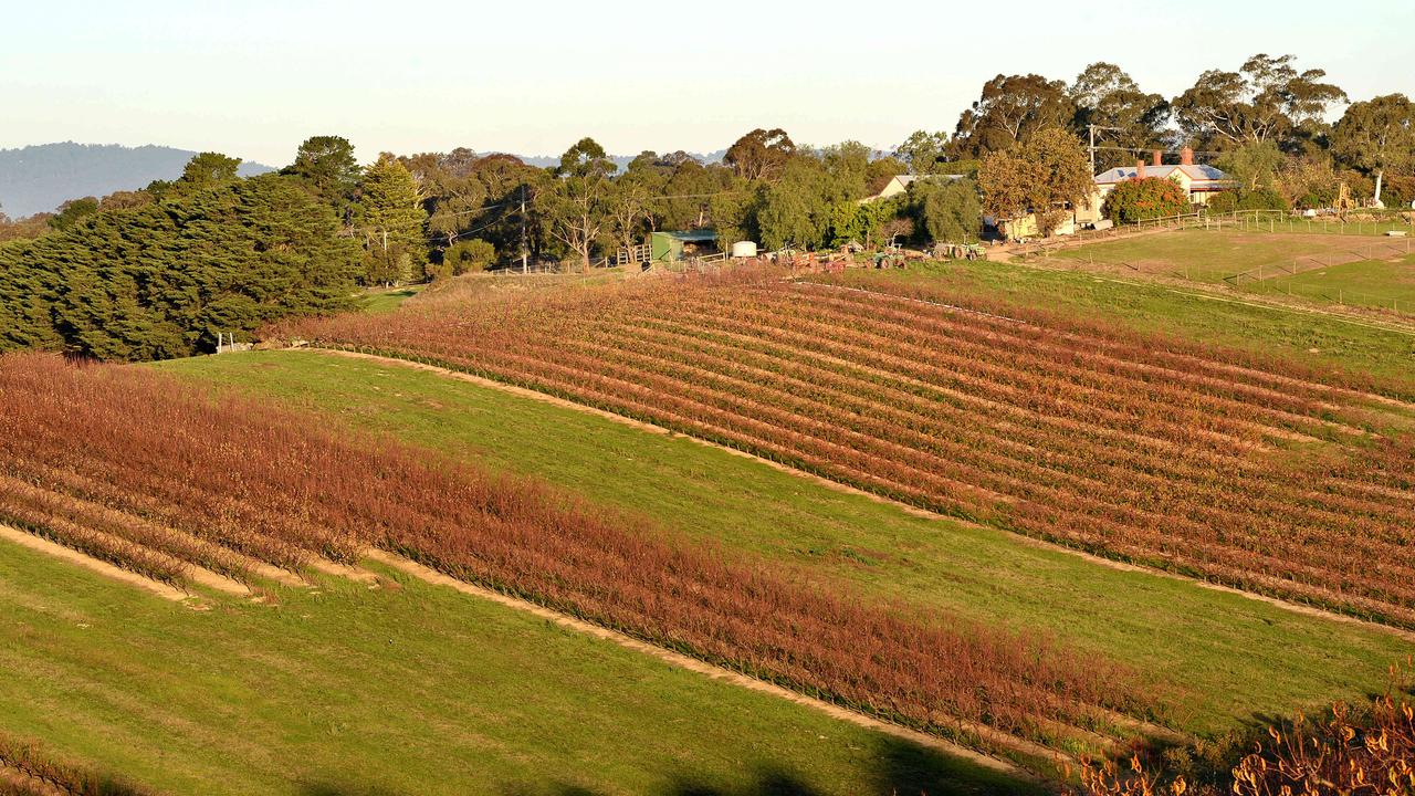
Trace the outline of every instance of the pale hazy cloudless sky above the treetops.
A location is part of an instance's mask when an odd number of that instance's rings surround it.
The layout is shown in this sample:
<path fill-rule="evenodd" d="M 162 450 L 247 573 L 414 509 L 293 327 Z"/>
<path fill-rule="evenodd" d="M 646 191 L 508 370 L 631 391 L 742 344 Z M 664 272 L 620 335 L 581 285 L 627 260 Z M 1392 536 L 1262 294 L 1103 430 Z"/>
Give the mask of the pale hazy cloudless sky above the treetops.
<path fill-rule="evenodd" d="M 1411 0 L 6 6 L 0 147 L 160 143 L 272 166 L 321 133 L 361 160 L 555 154 L 584 135 L 708 152 L 758 126 L 887 147 L 951 130 L 999 72 L 1070 81 L 1101 59 L 1166 96 L 1254 52 L 1293 52 L 1358 99 L 1415 93 Z"/>

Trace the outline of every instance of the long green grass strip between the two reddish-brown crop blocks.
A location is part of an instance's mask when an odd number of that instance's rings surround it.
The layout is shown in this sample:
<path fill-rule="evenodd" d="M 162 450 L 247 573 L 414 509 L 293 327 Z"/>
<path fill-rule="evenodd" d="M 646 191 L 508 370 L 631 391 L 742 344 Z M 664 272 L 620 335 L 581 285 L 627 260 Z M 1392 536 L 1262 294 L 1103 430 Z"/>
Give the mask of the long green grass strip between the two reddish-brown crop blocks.
<path fill-rule="evenodd" d="M 1409 650 L 1380 630 L 916 517 L 685 438 L 433 373 L 313 351 L 156 367 L 532 473 L 802 576 L 1124 660 L 1180 688 L 1176 722 L 1203 734 L 1377 688 Z"/>

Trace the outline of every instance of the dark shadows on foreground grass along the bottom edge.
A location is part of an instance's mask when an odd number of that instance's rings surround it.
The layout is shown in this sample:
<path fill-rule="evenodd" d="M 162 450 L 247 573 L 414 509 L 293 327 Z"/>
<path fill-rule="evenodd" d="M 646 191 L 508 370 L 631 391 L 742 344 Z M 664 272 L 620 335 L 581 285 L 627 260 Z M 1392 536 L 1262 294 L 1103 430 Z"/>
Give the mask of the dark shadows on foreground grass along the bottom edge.
<path fill-rule="evenodd" d="M 882 738 L 867 763 L 870 771 L 863 779 L 873 785 L 863 795 L 869 796 L 990 796 L 990 795 L 1041 795 L 1046 790 L 1034 783 L 1019 780 L 1006 773 L 988 769 L 917 746 L 907 741 Z M 473 772 L 474 773 L 474 772 Z M 546 772 L 545 780 L 536 785 L 502 785 L 501 796 L 603 796 L 604 792 L 572 785 L 563 779 L 576 779 L 576 772 Z M 449 785 L 453 778 L 449 778 Z M 696 776 L 674 772 L 666 783 L 648 789 L 652 796 L 825 796 L 838 789 L 821 776 L 808 776 L 773 763 L 758 763 L 736 776 Z M 724 779 L 730 783 L 724 783 Z M 559 780 L 559 782 L 558 782 Z M 456 790 L 447 790 L 454 793 Z M 318 783 L 307 786 L 303 796 L 423 796 L 422 793 L 396 792 L 361 785 Z"/>

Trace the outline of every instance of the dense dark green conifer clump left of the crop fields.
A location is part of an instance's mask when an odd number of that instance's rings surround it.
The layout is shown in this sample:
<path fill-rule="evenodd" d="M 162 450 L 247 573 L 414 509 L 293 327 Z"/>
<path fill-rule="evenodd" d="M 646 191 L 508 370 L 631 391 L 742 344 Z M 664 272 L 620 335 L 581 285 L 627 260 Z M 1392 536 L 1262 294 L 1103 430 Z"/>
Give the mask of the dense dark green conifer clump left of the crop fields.
<path fill-rule="evenodd" d="M 347 307 L 358 246 L 334 211 L 286 177 L 239 180 L 231 163 L 198 156 L 132 207 L 85 204 L 0 245 L 0 350 L 183 357 L 218 333 Z"/>

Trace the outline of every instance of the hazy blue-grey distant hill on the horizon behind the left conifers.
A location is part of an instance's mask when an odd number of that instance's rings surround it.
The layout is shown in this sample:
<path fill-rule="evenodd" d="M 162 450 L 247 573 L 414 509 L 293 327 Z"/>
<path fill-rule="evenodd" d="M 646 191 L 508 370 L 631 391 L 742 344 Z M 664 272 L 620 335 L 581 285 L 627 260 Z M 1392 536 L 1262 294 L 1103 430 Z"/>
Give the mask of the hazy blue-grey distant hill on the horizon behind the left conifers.
<path fill-rule="evenodd" d="M 195 152 L 170 146 L 47 143 L 0 149 L 0 212 L 23 218 L 48 212 L 68 200 L 132 191 L 153 180 L 173 180 Z M 242 163 L 241 174 L 273 171 Z"/>

